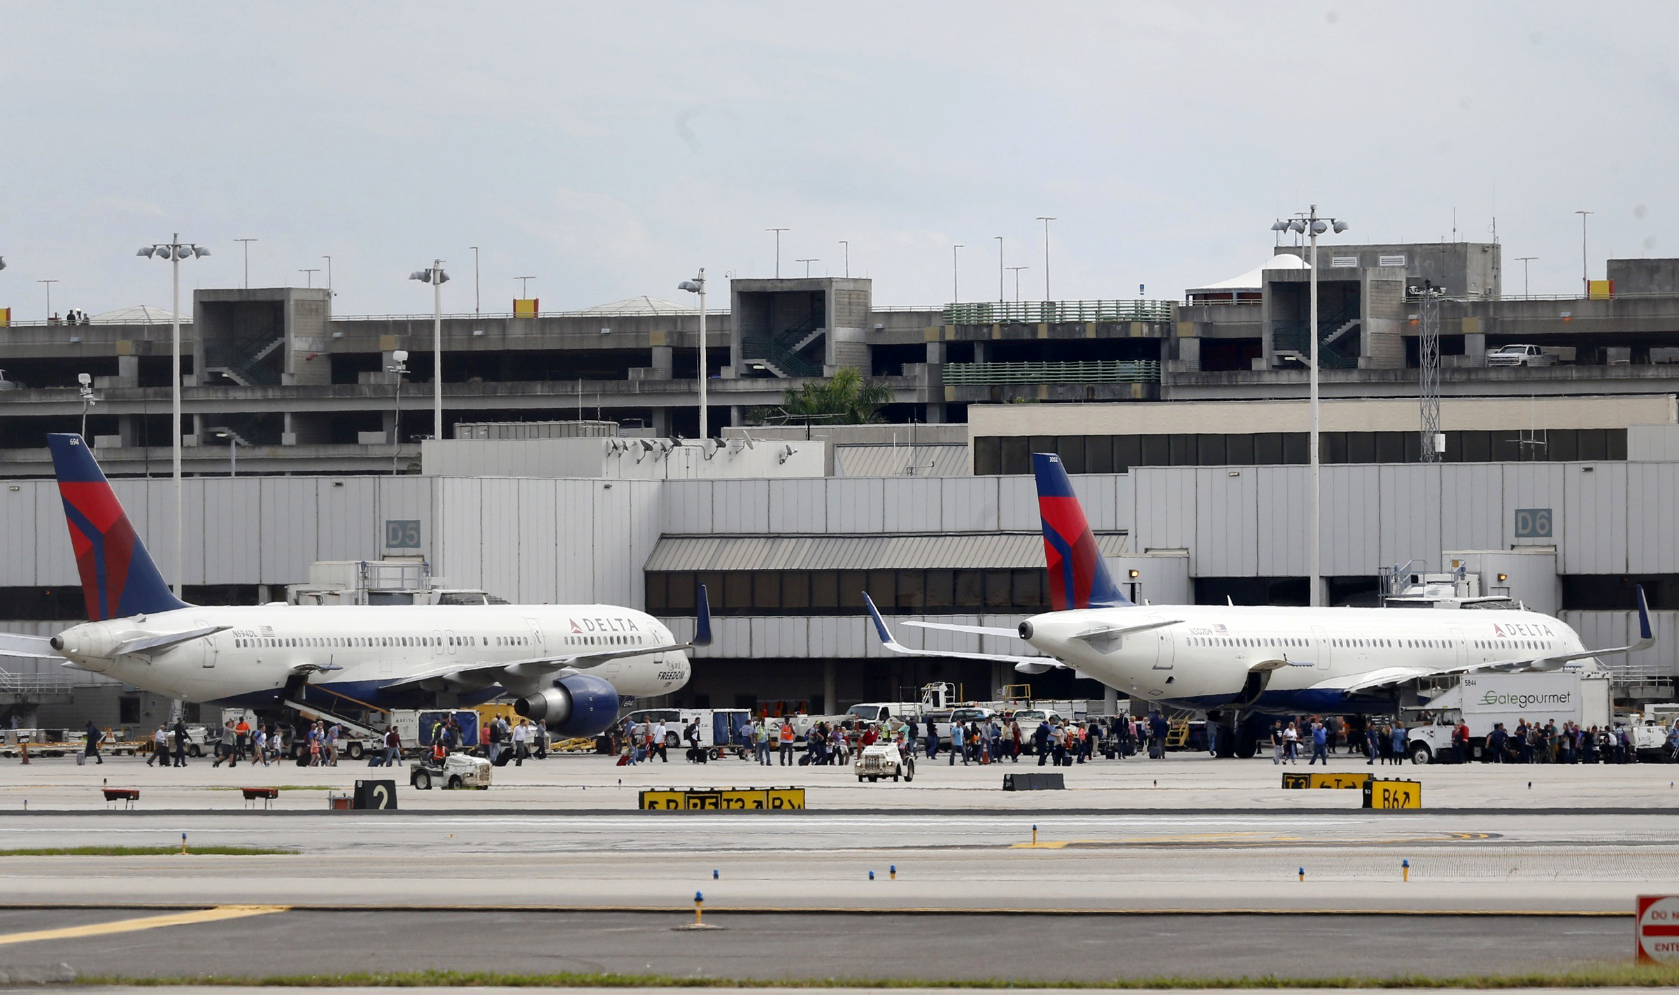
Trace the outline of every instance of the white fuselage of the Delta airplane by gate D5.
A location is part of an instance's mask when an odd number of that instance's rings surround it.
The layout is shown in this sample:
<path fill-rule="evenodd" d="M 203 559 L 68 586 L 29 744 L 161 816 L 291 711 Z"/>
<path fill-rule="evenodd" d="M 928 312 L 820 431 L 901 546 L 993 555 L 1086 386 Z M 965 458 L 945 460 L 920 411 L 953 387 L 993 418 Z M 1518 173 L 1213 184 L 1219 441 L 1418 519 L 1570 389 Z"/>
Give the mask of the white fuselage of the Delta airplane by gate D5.
<path fill-rule="evenodd" d="M 208 627 L 225 630 L 161 652 L 116 652 L 134 639 Z M 287 682 L 306 674 L 312 687 L 381 708 L 408 704 L 425 692 L 452 692 L 462 701 L 487 701 L 504 691 L 531 694 L 573 672 L 603 677 L 620 696 L 668 694 L 688 681 L 682 650 L 628 655 L 579 671 L 532 669 L 529 679 L 505 674 L 500 681 L 400 682 L 467 664 L 672 644 L 658 619 L 615 605 L 186 607 L 86 622 L 55 639 L 55 649 L 79 667 L 186 701 L 272 703 Z M 386 692 L 398 686 L 400 694 Z"/>

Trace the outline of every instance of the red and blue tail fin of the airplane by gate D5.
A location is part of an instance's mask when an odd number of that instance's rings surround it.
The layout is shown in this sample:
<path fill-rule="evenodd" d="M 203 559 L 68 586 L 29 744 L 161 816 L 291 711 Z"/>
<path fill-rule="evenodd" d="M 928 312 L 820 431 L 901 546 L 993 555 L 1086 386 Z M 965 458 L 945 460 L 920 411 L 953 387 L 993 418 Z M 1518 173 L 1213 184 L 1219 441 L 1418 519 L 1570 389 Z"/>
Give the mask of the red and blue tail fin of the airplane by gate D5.
<path fill-rule="evenodd" d="M 76 568 L 82 576 L 87 620 L 185 608 L 186 603 L 170 593 L 146 545 L 134 534 L 87 442 L 81 435 L 52 434 L 47 435 L 47 447 L 52 449 L 52 469 L 59 477 Z"/>

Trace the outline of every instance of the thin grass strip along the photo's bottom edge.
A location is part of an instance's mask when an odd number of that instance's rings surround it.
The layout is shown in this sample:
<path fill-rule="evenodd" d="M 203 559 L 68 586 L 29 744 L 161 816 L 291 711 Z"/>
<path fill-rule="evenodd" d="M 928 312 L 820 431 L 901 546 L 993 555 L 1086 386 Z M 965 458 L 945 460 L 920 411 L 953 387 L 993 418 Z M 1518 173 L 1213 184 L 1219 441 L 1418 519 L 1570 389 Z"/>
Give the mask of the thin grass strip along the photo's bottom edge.
<path fill-rule="evenodd" d="M 673 975 L 554 973 L 512 975 L 502 971 L 349 971 L 341 975 L 275 975 L 267 978 L 233 975 L 180 975 L 170 978 L 133 978 L 124 975 L 84 975 L 79 985 L 238 985 L 287 988 L 1669 988 L 1679 985 L 1679 966 L 1639 966 L 1632 963 L 1598 963 L 1555 971 L 1519 975 L 1392 975 L 1385 978 L 1289 978 L 1259 975 L 1241 978 L 1113 978 L 1103 982 L 1041 982 L 1028 978 L 693 978 Z"/>

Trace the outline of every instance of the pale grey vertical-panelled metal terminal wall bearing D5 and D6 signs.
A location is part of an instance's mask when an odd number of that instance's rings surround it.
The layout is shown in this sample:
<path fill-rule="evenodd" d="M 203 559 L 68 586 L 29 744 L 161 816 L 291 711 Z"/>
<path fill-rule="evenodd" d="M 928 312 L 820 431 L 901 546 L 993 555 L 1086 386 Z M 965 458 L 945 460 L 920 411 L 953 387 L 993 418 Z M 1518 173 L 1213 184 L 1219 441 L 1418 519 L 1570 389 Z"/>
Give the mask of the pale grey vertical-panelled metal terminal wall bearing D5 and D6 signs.
<path fill-rule="evenodd" d="M 1306 573 L 1306 467 L 1138 467 L 1078 477 L 1075 486 L 1096 529 L 1130 531 L 1132 551 L 1185 548 L 1194 576 Z M 118 481 L 116 489 L 173 575 L 170 481 Z M 1676 492 L 1672 462 L 1326 466 L 1325 573 L 1437 566 L 1442 548 L 1513 545 L 1555 545 L 1561 573 L 1679 573 Z M 420 551 L 445 578 L 524 602 L 638 605 L 640 570 L 660 534 L 989 533 L 1039 524 L 1031 477 L 210 477 L 188 481 L 185 494 L 190 585 L 296 583 L 316 560 L 379 556 L 386 519 L 420 519 Z M 1555 534 L 1516 540 L 1519 508 L 1553 509 Z M 433 534 L 438 509 L 442 550 Z M 50 481 L 0 489 L 0 587 L 76 582 Z"/>

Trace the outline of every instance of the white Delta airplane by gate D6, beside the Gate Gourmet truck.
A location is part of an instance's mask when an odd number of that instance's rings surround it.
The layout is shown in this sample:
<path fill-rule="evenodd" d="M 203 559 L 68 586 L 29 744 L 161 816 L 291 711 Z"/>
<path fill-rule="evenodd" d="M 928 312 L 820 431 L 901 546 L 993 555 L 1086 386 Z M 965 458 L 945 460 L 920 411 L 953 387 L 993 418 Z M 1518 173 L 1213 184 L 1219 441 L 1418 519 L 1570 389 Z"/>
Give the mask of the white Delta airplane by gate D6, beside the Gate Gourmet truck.
<path fill-rule="evenodd" d="M 1071 667 L 1135 699 L 1206 709 L 1236 733 L 1226 751 L 1251 756 L 1258 714 L 1394 714 L 1402 684 L 1478 671 L 1556 671 L 1655 644 L 1639 588 L 1639 642 L 1588 650 L 1550 615 L 1501 608 L 1284 608 L 1135 605 L 1120 593 L 1073 482 L 1053 454 L 1033 454 L 1051 612 L 1017 630 L 905 622 L 1023 639 L 1044 655 L 917 650 L 898 644 L 873 600 L 887 649 L 1012 662 L 1041 674 Z"/>

